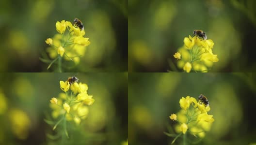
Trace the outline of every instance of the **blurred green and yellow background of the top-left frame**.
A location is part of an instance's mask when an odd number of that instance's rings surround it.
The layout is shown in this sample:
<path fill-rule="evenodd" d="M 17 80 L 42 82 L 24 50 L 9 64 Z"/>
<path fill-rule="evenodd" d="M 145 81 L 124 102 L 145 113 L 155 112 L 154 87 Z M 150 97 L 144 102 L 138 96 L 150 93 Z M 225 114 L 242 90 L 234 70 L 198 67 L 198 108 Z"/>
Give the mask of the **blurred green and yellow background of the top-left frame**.
<path fill-rule="evenodd" d="M 0 0 L 0 72 L 47 72 L 45 40 L 74 18 L 91 44 L 70 72 L 128 71 L 127 0 Z"/>

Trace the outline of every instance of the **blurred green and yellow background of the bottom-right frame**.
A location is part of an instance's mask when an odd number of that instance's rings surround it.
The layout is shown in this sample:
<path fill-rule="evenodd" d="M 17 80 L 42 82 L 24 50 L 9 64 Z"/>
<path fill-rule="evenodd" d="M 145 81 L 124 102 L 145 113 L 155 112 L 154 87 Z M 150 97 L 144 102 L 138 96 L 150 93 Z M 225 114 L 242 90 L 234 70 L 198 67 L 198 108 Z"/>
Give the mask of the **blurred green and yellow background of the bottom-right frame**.
<path fill-rule="evenodd" d="M 130 73 L 128 80 L 129 145 L 171 145 L 169 118 L 179 112 L 181 97 L 208 97 L 215 121 L 197 145 L 256 143 L 256 74 Z M 173 132 L 171 132 L 173 133 Z M 192 141 L 198 138 L 190 135 Z M 183 145 L 178 138 L 174 145 Z"/>

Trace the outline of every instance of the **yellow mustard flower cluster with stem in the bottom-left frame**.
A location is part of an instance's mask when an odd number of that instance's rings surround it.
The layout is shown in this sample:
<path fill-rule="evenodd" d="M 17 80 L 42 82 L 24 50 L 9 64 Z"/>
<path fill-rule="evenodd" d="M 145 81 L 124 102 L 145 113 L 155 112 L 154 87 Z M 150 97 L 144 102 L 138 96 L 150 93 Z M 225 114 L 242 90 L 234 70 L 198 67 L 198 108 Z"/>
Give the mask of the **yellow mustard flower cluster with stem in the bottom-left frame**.
<path fill-rule="evenodd" d="M 92 105 L 95 100 L 92 95 L 87 94 L 87 84 L 77 82 L 70 84 L 68 81 L 60 81 L 60 88 L 64 92 L 60 93 L 57 98 L 53 97 L 50 100 L 51 116 L 54 119 L 59 119 L 53 130 L 63 122 L 64 131 L 68 137 L 66 121 L 74 121 L 79 125 L 89 113 L 88 106 Z"/>

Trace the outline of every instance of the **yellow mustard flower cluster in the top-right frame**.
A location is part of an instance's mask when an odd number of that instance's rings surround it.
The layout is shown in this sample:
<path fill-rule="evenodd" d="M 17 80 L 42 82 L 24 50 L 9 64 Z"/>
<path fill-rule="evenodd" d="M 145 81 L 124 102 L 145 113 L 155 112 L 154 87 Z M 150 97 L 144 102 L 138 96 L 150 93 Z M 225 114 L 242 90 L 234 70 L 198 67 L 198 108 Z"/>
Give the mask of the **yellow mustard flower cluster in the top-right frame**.
<path fill-rule="evenodd" d="M 178 49 L 174 58 L 179 59 L 177 67 L 185 72 L 208 72 L 213 62 L 218 62 L 217 55 L 212 53 L 213 41 L 203 40 L 198 36 L 184 38 L 184 46 Z"/>

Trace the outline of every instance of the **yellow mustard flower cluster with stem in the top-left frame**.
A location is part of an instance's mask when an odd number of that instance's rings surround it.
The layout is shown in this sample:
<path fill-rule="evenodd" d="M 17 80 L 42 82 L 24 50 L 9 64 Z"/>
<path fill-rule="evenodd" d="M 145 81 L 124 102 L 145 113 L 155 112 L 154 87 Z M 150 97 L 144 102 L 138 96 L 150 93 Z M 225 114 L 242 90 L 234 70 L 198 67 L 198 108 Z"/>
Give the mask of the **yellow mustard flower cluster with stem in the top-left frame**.
<path fill-rule="evenodd" d="M 45 42 L 50 46 L 47 53 L 52 61 L 40 58 L 43 62 L 51 65 L 58 60 L 59 72 L 62 72 L 62 58 L 66 61 L 73 61 L 75 64 L 80 62 L 80 57 L 84 55 L 86 46 L 90 44 L 89 38 L 85 35 L 84 29 L 72 25 L 71 22 L 62 20 L 56 23 L 56 30 L 59 32 L 53 38 L 48 38 Z"/>

